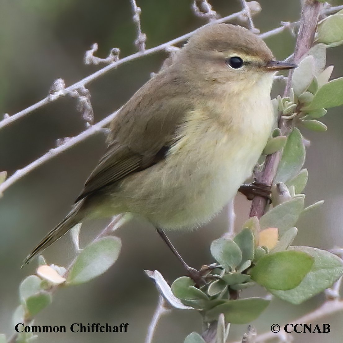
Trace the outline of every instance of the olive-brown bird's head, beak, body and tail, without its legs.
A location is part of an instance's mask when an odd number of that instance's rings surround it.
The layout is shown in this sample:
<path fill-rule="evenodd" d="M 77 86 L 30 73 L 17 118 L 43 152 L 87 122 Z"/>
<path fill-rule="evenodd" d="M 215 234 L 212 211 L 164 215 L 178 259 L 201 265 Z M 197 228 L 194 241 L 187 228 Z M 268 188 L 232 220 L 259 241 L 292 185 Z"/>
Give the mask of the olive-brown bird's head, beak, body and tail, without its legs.
<path fill-rule="evenodd" d="M 72 210 L 23 263 L 89 218 L 131 212 L 163 230 L 210 221 L 267 143 L 273 75 L 295 67 L 246 28 L 198 29 L 119 110 Z"/>

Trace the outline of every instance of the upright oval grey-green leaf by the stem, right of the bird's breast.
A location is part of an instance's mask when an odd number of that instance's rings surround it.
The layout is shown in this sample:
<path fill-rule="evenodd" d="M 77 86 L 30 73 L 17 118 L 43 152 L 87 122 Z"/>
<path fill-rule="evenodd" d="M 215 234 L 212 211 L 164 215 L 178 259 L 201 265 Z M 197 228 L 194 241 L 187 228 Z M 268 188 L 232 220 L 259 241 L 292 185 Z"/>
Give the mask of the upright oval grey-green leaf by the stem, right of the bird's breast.
<path fill-rule="evenodd" d="M 303 136 L 297 128 L 288 135 L 275 176 L 276 182 L 286 182 L 298 175 L 305 162 Z"/>

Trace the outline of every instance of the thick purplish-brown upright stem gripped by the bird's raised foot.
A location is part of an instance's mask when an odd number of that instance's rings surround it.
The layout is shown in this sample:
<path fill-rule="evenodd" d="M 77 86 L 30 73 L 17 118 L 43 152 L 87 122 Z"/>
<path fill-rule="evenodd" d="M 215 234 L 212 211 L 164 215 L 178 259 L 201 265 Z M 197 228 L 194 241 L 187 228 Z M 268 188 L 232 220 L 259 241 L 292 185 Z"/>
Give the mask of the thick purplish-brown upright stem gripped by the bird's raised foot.
<path fill-rule="evenodd" d="M 294 51 L 294 61 L 298 62 L 301 57 L 311 48 L 316 27 L 318 23 L 319 14 L 322 9 L 322 3 L 315 0 L 305 0 L 301 10 L 300 26 L 297 37 L 297 42 Z M 289 94 L 292 84 L 292 72 L 289 73 L 285 95 Z M 289 128 L 288 124 L 280 118 L 279 128 L 282 134 L 285 134 Z M 272 185 L 273 179 L 276 174 L 277 167 L 279 166 L 282 157 L 282 152 L 278 151 L 268 155 L 265 159 L 265 168 L 263 172 L 255 175 L 258 182 L 263 182 L 267 185 Z M 257 216 L 260 218 L 267 205 L 267 200 L 262 197 L 255 197 L 251 203 L 250 217 Z"/>

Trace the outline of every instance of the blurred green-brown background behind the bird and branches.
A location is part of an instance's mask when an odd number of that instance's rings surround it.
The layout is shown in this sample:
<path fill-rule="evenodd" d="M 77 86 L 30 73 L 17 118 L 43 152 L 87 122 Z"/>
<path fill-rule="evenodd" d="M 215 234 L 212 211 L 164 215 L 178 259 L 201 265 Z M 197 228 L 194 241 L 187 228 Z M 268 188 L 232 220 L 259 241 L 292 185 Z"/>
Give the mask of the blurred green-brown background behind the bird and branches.
<path fill-rule="evenodd" d="M 187 0 L 138 0 L 142 9 L 142 30 L 147 48 L 185 34 L 205 22 L 194 17 Z M 300 2 L 261 0 L 262 12 L 254 18 L 261 32 L 281 21 L 299 18 Z M 211 0 L 222 16 L 238 11 L 239 1 Z M 339 2 L 335 3 L 339 4 Z M 84 66 L 83 55 L 97 42 L 97 56 L 106 57 L 113 47 L 121 57 L 135 51 L 135 26 L 129 0 L 1 0 L 0 3 L 0 113 L 14 114 L 37 102 L 48 93 L 52 82 L 63 78 L 66 85 L 93 73 L 99 67 Z M 294 49 L 291 33 L 266 40 L 277 59 L 286 58 Z M 334 64 L 333 76 L 342 76 L 342 47 L 328 50 L 328 64 Z M 165 54 L 143 57 L 120 66 L 96 80 L 88 89 L 96 121 L 124 104 L 158 71 Z M 201 68 L 201 66 L 199 66 Z M 274 93 L 281 92 L 275 83 Z M 332 248 L 343 246 L 343 116 L 342 108 L 330 109 L 324 122 L 327 133 L 302 130 L 311 146 L 305 166 L 309 183 L 306 203 L 324 199 L 324 205 L 302 217 L 298 223 L 296 245 Z M 75 100 L 62 98 L 18 120 L 0 132 L 0 170 L 14 173 L 55 147 L 58 138 L 75 136 L 84 130 Z M 69 211 L 75 197 L 105 150 L 102 134 L 34 170 L 8 189 L 0 199 L 0 332 L 12 334 L 12 314 L 19 304 L 18 286 L 26 275 L 34 273 L 36 261 L 20 270 L 23 258 L 34 245 Z M 250 203 L 236 198 L 236 227 L 245 221 Z M 103 221 L 84 225 L 81 245 L 87 244 L 105 225 Z M 224 210 L 212 223 L 189 233 L 173 233 L 170 238 L 184 259 L 194 268 L 211 263 L 210 242 L 227 227 Z M 71 323 L 129 323 L 124 334 L 40 334 L 38 342 L 143 342 L 158 299 L 154 284 L 143 270 L 159 270 L 172 282 L 184 270 L 153 227 L 133 221 L 118 230 L 122 251 L 117 263 L 104 275 L 84 285 L 60 289 L 51 306 L 36 318 L 36 325 Z M 68 265 L 75 256 L 69 235 L 45 251 L 48 263 Z M 262 294 L 253 289 L 249 294 Z M 248 293 L 247 293 L 248 295 Z M 286 323 L 308 312 L 323 300 L 319 295 L 303 305 L 293 306 L 274 300 L 254 324 L 258 332 L 268 331 L 273 323 Z M 331 333 L 298 334 L 294 342 L 338 342 L 343 334 L 342 314 L 319 319 L 330 323 Z M 239 339 L 246 326 L 233 326 L 230 341 Z M 192 331 L 201 331 L 201 317 L 193 312 L 174 310 L 162 318 L 154 342 L 177 343 Z"/>

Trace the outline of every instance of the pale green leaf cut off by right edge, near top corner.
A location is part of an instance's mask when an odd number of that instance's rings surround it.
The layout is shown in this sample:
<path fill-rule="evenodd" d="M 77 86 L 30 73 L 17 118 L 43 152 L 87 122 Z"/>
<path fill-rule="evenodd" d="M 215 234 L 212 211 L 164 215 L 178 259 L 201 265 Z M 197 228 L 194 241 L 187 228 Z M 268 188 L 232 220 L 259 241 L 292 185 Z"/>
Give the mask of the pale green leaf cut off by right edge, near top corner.
<path fill-rule="evenodd" d="M 343 40 L 343 15 L 336 13 L 323 19 L 318 23 L 317 33 L 319 43 L 340 43 Z"/>

